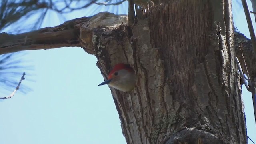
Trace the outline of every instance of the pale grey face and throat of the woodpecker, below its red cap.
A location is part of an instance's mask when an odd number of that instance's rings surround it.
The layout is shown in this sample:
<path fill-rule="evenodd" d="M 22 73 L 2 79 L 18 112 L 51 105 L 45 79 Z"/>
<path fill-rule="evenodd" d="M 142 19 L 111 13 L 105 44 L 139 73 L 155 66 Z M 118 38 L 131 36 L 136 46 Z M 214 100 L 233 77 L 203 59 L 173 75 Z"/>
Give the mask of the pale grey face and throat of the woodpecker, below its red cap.
<path fill-rule="evenodd" d="M 135 74 L 125 69 L 118 70 L 112 74 L 108 85 L 123 92 L 130 92 L 135 87 Z"/>

